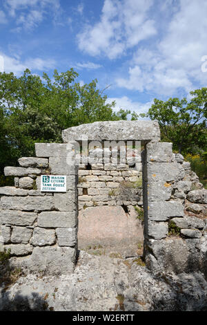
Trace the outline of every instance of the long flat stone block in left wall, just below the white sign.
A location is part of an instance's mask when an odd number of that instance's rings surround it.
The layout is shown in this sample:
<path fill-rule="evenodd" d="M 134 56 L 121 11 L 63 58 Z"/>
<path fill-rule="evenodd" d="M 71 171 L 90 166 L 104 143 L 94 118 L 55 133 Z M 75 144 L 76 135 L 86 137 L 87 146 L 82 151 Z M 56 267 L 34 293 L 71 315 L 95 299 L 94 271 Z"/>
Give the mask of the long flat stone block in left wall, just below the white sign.
<path fill-rule="evenodd" d="M 52 196 L 2 196 L 3 210 L 46 211 L 54 208 Z"/>

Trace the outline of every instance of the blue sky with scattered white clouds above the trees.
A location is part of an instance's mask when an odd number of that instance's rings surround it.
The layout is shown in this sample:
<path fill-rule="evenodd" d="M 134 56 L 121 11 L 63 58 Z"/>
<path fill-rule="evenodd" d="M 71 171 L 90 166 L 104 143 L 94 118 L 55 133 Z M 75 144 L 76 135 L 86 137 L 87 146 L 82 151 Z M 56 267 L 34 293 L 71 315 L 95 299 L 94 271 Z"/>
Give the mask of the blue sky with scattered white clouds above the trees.
<path fill-rule="evenodd" d="M 206 17 L 206 0 L 0 0 L 3 69 L 75 68 L 141 113 L 206 86 Z"/>

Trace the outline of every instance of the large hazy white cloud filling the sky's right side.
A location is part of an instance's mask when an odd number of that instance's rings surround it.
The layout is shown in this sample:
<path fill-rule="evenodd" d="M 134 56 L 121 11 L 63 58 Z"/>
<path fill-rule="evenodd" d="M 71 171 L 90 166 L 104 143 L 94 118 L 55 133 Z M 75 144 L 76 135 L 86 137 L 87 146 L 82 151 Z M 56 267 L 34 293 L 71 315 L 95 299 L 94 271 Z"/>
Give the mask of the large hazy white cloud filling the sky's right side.
<path fill-rule="evenodd" d="M 180 0 L 175 11 L 161 41 L 153 50 L 137 50 L 128 79 L 117 77 L 118 86 L 161 95 L 175 95 L 178 89 L 188 93 L 197 83 L 206 86 L 201 57 L 207 55 L 207 2 Z"/>

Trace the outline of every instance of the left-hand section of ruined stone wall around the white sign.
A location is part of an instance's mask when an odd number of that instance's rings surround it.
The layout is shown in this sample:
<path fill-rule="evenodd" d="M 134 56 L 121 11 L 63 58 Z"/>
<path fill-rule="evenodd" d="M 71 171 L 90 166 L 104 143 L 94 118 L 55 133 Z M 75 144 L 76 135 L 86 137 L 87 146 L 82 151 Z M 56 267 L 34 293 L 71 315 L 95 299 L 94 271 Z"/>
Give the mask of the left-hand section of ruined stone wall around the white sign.
<path fill-rule="evenodd" d="M 77 168 L 70 143 L 36 145 L 35 158 L 6 167 L 15 187 L 0 187 L 1 241 L 32 272 L 72 272 L 77 254 Z M 66 193 L 41 192 L 41 174 L 67 175 Z M 21 257 L 21 259 L 17 259 Z"/>

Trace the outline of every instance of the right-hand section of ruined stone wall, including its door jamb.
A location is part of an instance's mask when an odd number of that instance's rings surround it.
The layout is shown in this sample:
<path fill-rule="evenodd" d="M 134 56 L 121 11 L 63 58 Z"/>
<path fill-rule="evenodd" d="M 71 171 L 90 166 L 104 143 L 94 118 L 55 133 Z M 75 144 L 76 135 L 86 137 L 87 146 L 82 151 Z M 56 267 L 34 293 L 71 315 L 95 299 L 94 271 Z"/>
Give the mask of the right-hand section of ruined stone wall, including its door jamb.
<path fill-rule="evenodd" d="M 172 144 L 150 142 L 143 156 L 148 268 L 206 275 L 207 190 Z"/>

